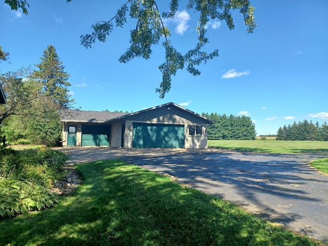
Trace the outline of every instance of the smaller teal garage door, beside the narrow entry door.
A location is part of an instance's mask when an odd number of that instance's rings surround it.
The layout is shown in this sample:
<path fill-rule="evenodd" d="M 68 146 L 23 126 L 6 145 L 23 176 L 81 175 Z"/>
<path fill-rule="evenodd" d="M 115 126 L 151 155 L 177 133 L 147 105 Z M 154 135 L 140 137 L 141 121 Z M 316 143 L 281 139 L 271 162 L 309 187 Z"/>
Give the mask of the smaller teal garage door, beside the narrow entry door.
<path fill-rule="evenodd" d="M 109 126 L 82 125 L 82 146 L 109 146 Z"/>

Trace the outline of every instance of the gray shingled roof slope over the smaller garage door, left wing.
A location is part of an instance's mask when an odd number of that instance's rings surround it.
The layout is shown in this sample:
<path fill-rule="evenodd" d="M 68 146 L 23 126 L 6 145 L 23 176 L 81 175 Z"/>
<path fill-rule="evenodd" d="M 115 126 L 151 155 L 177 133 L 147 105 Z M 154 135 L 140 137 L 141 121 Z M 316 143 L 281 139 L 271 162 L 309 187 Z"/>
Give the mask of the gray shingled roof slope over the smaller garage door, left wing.
<path fill-rule="evenodd" d="M 127 115 L 129 113 L 113 113 L 100 111 L 83 111 L 83 110 L 63 110 L 60 114 L 60 121 L 68 122 L 97 122 L 105 121 Z"/>

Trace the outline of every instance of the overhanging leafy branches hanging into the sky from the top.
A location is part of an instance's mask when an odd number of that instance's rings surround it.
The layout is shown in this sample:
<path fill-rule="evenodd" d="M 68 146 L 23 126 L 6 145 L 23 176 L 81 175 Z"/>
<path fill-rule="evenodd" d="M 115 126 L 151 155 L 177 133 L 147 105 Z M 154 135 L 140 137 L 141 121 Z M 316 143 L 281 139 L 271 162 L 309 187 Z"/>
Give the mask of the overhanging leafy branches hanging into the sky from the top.
<path fill-rule="evenodd" d="M 71 0 L 67 0 L 71 2 Z M 166 1 L 165 1 L 166 2 Z M 22 9 L 28 14 L 30 7 L 26 0 L 5 0 L 12 10 Z M 239 10 L 247 26 L 247 32 L 253 33 L 256 23 L 254 17 L 255 8 L 251 6 L 249 0 L 188 0 L 183 8 L 193 10 L 198 14 L 198 40 L 193 49 L 185 54 L 174 48 L 170 40 L 171 32 L 164 24 L 167 18 L 173 18 L 181 7 L 179 0 L 170 0 L 165 5 L 169 5 L 168 11 L 160 12 L 159 4 L 163 1 L 155 0 L 125 0 L 120 8 L 113 12 L 108 20 L 100 20 L 91 26 L 91 32 L 80 36 L 81 45 L 91 48 L 98 40 L 106 42 L 114 27 L 123 27 L 128 20 L 135 22 L 135 28 L 130 31 L 130 47 L 119 57 L 121 63 L 127 63 L 135 57 L 149 59 L 152 54 L 152 46 L 158 45 L 162 41 L 165 48 L 165 60 L 158 69 L 162 73 L 162 81 L 156 92 L 163 98 L 171 88 L 172 76 L 181 69 L 185 69 L 192 75 L 199 75 L 197 68 L 200 64 L 206 64 L 208 60 L 218 56 L 218 50 L 210 53 L 204 51 L 204 46 L 209 43 L 206 35 L 207 24 L 210 20 L 221 20 L 227 23 L 230 30 L 234 29 L 233 10 Z M 166 9 L 166 7 L 165 7 Z"/>

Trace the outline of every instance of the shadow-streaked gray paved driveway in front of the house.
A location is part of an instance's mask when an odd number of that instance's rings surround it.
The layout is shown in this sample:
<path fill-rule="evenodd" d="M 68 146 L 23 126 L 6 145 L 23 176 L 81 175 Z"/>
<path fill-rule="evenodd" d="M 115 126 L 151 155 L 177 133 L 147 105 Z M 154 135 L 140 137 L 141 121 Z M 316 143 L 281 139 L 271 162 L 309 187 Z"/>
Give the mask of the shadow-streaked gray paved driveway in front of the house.
<path fill-rule="evenodd" d="M 281 155 L 215 149 L 64 148 L 74 163 L 119 158 L 235 203 L 264 219 L 328 243 L 328 175 L 316 154 Z"/>

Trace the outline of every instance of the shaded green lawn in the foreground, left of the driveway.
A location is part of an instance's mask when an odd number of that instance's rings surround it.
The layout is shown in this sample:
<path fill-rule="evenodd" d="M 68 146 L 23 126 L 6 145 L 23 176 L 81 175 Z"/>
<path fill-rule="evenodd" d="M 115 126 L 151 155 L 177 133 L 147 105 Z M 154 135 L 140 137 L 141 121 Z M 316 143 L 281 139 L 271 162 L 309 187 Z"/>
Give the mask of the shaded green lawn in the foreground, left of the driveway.
<path fill-rule="evenodd" d="M 54 208 L 0 220 L 0 245 L 320 245 L 119 160 L 78 165 Z"/>

